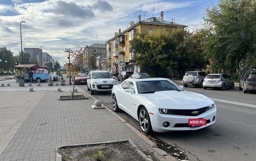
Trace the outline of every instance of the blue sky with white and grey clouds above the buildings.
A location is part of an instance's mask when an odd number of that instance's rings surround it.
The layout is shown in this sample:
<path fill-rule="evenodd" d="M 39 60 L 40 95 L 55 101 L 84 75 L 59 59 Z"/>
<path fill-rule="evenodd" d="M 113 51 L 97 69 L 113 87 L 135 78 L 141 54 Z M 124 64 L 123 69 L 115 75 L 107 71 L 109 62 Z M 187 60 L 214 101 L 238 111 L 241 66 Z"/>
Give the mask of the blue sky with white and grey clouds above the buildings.
<path fill-rule="evenodd" d="M 42 48 L 61 65 L 66 49 L 105 43 L 115 33 L 150 17 L 188 26 L 202 26 L 205 9 L 218 0 L 0 0 L 0 47 L 13 56 L 22 48 Z M 21 22 L 25 21 L 25 22 Z M 21 22 L 21 23 L 20 23 Z M 21 32 L 20 32 L 21 26 Z"/>

